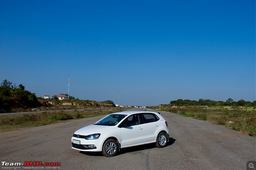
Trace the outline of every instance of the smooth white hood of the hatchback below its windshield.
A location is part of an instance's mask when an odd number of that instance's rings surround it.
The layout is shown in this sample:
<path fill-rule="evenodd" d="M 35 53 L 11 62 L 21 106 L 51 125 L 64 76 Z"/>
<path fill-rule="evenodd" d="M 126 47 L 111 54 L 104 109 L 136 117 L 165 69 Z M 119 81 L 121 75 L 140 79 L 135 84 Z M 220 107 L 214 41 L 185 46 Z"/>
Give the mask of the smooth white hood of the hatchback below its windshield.
<path fill-rule="evenodd" d="M 100 131 L 112 128 L 113 126 L 102 126 L 102 125 L 89 125 L 81 129 L 76 130 L 75 134 L 79 135 L 91 135 L 94 133 L 100 133 Z"/>

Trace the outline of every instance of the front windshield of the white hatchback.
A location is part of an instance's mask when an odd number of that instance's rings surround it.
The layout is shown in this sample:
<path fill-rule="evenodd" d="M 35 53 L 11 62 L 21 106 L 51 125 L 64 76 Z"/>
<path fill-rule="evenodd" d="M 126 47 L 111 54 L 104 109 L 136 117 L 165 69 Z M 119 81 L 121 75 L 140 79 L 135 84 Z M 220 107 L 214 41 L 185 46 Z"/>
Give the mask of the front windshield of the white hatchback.
<path fill-rule="evenodd" d="M 94 124 L 95 125 L 103 125 L 103 126 L 115 126 L 125 116 L 127 116 L 127 115 L 119 115 L 119 114 L 108 115 Z"/>

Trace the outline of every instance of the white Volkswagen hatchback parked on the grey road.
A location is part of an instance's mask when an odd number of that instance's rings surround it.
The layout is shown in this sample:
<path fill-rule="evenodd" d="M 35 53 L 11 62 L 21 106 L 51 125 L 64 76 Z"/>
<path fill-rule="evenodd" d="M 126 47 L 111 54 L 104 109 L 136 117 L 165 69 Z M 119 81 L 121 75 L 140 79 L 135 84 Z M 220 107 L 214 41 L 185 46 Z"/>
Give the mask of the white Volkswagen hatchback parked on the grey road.
<path fill-rule="evenodd" d="M 157 112 L 125 111 L 112 113 L 98 122 L 76 130 L 72 148 L 79 151 L 102 151 L 106 157 L 121 148 L 155 143 L 166 146 L 169 141 L 167 122 Z"/>

